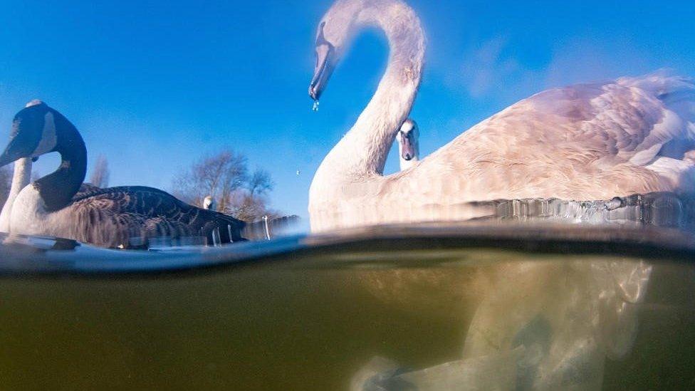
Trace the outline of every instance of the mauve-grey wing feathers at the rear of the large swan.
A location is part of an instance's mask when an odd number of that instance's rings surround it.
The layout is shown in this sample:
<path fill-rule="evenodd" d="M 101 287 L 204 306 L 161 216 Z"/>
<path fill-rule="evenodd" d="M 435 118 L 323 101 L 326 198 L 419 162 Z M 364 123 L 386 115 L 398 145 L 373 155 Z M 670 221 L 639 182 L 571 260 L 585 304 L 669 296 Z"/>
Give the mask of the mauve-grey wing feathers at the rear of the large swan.
<path fill-rule="evenodd" d="M 609 164 L 682 159 L 695 148 L 695 85 L 686 78 L 655 74 L 573 85 L 520 104 L 537 115 L 558 117 L 548 123 L 566 127 L 567 142 L 559 140 L 560 146 L 584 147 L 595 160 Z"/>

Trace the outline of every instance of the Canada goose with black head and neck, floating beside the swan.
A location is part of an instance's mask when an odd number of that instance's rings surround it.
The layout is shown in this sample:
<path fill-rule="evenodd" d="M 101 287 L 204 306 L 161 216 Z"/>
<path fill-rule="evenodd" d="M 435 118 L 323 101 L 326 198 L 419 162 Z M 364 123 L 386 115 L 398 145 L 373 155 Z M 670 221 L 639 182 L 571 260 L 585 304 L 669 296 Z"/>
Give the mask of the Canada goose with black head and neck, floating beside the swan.
<path fill-rule="evenodd" d="M 61 167 L 24 186 L 14 198 L 11 234 L 61 236 L 108 247 L 142 246 L 152 236 L 207 236 L 212 229 L 219 229 L 223 242 L 242 239 L 242 221 L 185 204 L 161 190 L 84 184 L 82 137 L 41 102 L 16 115 L 0 165 L 53 151 L 61 154 Z"/>

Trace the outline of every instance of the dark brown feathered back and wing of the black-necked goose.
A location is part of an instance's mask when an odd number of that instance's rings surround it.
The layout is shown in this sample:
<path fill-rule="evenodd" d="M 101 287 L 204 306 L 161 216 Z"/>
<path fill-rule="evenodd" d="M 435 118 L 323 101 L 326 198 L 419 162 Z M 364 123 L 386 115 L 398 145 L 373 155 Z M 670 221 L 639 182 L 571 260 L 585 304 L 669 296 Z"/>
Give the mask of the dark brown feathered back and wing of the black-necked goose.
<path fill-rule="evenodd" d="M 85 189 L 70 209 L 90 243 L 118 246 L 129 238 L 207 236 L 219 229 L 222 242 L 240 241 L 244 221 L 186 204 L 152 187 Z M 78 233 L 78 236 L 80 234 Z M 110 237 L 113 236 L 112 239 Z"/>

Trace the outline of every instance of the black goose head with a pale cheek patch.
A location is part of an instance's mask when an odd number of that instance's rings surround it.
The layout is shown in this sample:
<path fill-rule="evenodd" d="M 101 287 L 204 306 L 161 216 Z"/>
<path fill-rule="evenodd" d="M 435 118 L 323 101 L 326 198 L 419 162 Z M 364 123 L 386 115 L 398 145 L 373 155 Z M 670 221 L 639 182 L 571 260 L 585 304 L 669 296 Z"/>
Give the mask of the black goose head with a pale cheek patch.
<path fill-rule="evenodd" d="M 36 160 L 39 155 L 56 150 L 58 118 L 61 123 L 63 120 L 67 122 L 60 113 L 49 108 L 41 100 L 27 103 L 26 107 L 14 116 L 10 142 L 0 155 L 0 167 L 22 157 Z"/>

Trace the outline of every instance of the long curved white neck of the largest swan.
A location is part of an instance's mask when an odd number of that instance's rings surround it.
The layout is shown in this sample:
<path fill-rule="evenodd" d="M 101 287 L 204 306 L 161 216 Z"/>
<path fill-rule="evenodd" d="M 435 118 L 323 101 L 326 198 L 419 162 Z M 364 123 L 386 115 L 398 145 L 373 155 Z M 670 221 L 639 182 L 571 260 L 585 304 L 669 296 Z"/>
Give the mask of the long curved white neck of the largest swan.
<path fill-rule="evenodd" d="M 390 46 L 386 72 L 360 118 L 321 163 L 310 198 L 320 198 L 336 185 L 380 176 L 395 134 L 410 113 L 422 74 L 424 34 L 409 6 L 398 1 L 381 8 L 362 11 L 357 23 L 385 32 Z"/>

